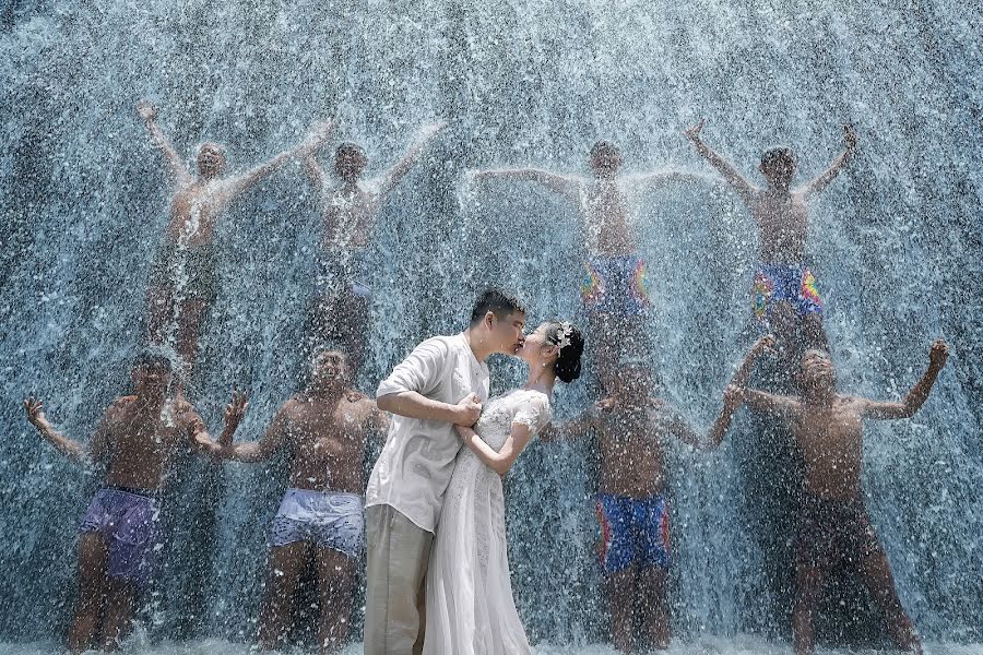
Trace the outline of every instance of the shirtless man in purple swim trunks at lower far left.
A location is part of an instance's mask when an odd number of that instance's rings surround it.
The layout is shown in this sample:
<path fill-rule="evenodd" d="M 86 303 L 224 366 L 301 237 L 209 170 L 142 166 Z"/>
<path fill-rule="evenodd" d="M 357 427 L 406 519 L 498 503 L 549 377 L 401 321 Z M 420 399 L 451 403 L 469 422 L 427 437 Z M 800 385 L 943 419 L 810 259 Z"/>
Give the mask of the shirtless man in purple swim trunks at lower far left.
<path fill-rule="evenodd" d="M 85 466 L 105 466 L 103 487 L 79 527 L 80 592 L 68 636 L 72 653 L 94 645 L 112 650 L 129 631 L 137 593 L 153 575 L 159 541 L 156 498 L 165 475 L 180 449 L 208 439 L 194 407 L 170 397 L 167 357 L 141 354 L 131 377 L 132 394 L 109 405 L 87 444 L 57 431 L 40 401 L 24 401 L 27 420 L 55 448 Z M 226 408 L 225 439 L 232 439 L 244 404 L 236 394 Z"/>

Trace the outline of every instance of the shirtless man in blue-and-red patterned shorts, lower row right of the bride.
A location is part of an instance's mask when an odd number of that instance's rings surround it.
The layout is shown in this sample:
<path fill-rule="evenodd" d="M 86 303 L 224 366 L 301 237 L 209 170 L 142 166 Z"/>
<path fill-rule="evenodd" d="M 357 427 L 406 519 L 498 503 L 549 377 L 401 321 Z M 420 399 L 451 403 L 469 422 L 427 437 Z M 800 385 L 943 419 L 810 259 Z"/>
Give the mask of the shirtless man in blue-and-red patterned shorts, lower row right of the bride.
<path fill-rule="evenodd" d="M 766 337 L 753 353 L 765 348 Z M 747 381 L 749 356 L 732 385 Z M 670 642 L 665 576 L 672 561 L 668 507 L 665 500 L 665 444 L 671 437 L 698 449 L 716 448 L 726 432 L 739 398 L 729 388 L 720 416 L 701 438 L 668 404 L 653 397 L 656 389 L 643 364 L 621 364 L 605 386 L 611 395 L 599 412 L 557 426 L 543 440 L 593 433 L 601 455 L 596 496 L 600 539 L 597 556 L 608 580 L 612 638 L 621 653 L 632 652 L 638 622 L 650 645 Z"/>

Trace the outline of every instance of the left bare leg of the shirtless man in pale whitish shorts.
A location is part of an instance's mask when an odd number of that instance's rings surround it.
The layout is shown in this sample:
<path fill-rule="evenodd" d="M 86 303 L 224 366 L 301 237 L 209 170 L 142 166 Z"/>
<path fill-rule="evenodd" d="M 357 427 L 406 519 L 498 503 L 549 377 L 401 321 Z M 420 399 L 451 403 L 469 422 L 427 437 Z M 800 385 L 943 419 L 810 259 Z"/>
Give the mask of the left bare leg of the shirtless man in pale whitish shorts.
<path fill-rule="evenodd" d="M 286 639 L 291 623 L 294 591 L 310 550 L 306 541 L 295 541 L 270 549 L 270 572 L 260 610 L 259 644 L 264 651 L 275 651 Z"/>

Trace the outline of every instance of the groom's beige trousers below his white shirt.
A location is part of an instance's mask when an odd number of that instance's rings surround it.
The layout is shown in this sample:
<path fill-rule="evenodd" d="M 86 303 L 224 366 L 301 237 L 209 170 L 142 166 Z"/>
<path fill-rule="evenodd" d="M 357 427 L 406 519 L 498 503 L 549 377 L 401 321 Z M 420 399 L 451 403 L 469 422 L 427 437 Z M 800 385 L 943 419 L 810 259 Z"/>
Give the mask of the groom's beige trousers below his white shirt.
<path fill-rule="evenodd" d="M 365 537 L 365 655 L 418 655 L 434 535 L 389 505 L 372 505 Z"/>

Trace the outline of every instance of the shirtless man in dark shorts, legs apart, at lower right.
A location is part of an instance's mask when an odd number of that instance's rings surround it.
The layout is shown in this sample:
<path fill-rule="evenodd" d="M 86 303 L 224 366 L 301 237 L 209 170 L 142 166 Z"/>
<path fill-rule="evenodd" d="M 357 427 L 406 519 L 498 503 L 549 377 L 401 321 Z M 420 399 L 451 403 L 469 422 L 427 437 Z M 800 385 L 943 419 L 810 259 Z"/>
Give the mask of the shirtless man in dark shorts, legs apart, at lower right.
<path fill-rule="evenodd" d="M 737 392 L 750 407 L 785 418 L 805 463 L 792 615 L 798 655 L 813 653 L 813 614 L 820 599 L 822 574 L 844 560 L 858 563 L 860 574 L 884 611 L 895 643 L 902 650 L 921 652 L 914 626 L 898 598 L 890 564 L 864 504 L 863 421 L 913 416 L 928 397 L 948 356 L 945 342 L 933 343 L 927 370 L 900 403 L 840 395 L 832 361 L 820 350 L 806 350 L 802 358 L 800 397 L 750 389 Z"/>

